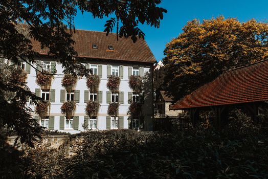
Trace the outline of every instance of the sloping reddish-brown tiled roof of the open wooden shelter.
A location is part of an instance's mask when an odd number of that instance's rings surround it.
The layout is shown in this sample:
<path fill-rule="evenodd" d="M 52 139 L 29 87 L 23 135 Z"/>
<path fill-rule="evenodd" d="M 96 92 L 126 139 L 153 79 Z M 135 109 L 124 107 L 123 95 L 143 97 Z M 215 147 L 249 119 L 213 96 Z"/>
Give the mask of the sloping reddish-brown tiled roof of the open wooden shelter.
<path fill-rule="evenodd" d="M 176 102 L 171 109 L 187 109 L 268 100 L 268 59 L 221 74 Z"/>

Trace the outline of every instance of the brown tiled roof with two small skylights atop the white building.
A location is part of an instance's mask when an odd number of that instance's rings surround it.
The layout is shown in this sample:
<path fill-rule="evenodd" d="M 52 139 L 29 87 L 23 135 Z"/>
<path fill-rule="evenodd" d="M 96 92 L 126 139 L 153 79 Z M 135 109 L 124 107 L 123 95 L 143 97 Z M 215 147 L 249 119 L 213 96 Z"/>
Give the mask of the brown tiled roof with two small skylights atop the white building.
<path fill-rule="evenodd" d="M 120 38 L 117 41 L 115 33 L 106 36 L 104 32 L 76 30 L 73 34 L 74 48 L 78 57 L 96 58 L 107 60 L 124 60 L 139 62 L 156 62 L 151 50 L 143 39 L 133 43 L 130 38 Z M 98 49 L 93 49 L 92 44 L 97 44 Z M 42 50 L 38 41 L 32 41 L 34 51 L 47 55 L 48 50 Z M 114 50 L 108 50 L 113 46 Z"/>

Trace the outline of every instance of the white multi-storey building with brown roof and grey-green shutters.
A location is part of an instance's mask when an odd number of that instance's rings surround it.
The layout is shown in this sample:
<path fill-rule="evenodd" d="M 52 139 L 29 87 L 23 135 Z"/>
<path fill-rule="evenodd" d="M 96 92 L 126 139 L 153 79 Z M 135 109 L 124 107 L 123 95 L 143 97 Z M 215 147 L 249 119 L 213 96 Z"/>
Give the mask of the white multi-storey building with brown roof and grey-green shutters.
<path fill-rule="evenodd" d="M 88 123 L 90 129 L 120 129 L 143 126 L 144 130 L 152 130 L 153 116 L 153 89 L 152 89 L 152 69 L 155 58 L 147 43 L 143 39 L 138 39 L 133 43 L 131 39 L 119 38 L 116 34 L 106 36 L 104 32 L 76 30 L 73 35 L 76 41 L 74 45 L 78 52 L 79 60 L 85 63 L 87 68 L 93 69 L 94 74 L 100 77 L 98 93 L 91 93 L 86 86 L 86 78 L 78 79 L 76 89 L 70 94 L 65 92 L 61 86 L 63 69 L 55 59 L 47 55 L 46 50 L 41 50 L 39 43 L 33 41 L 33 48 L 40 54 L 36 57 L 38 64 L 43 69 L 56 70 L 50 89 L 42 89 L 35 82 L 36 70 L 25 64 L 24 68 L 28 73 L 28 86 L 32 92 L 45 100 L 50 101 L 50 113 L 46 119 L 39 119 L 35 113 L 32 115 L 39 120 L 40 124 L 50 130 L 59 130 L 76 133 L 84 130 L 82 124 Z M 108 77 L 113 74 L 121 78 L 119 93 L 111 94 L 106 87 Z M 131 122 L 128 120 L 129 100 L 132 99 L 132 91 L 128 86 L 130 75 L 140 75 L 145 77 L 145 87 L 142 94 L 144 102 L 142 104 L 142 116 Z M 137 95 L 136 95 L 137 96 Z M 86 102 L 89 99 L 99 101 L 100 109 L 96 119 L 89 119 L 85 114 Z M 68 120 L 61 114 L 61 105 L 66 100 L 76 102 L 76 110 L 73 119 Z M 110 102 L 119 102 L 119 116 L 116 118 L 107 115 L 107 108 Z M 34 108 L 34 107 L 33 107 Z"/>

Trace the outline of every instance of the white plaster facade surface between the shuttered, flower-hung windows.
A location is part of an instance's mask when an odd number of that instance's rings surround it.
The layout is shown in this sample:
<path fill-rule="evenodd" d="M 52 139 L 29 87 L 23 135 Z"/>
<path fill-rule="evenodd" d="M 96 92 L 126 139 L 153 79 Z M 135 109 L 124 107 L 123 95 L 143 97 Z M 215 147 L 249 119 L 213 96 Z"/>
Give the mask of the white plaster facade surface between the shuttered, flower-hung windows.
<path fill-rule="evenodd" d="M 50 61 L 47 58 L 44 59 L 40 59 L 40 61 Z M 100 80 L 100 85 L 99 85 L 99 91 L 102 92 L 102 103 L 99 109 L 99 114 L 97 117 L 97 126 L 96 129 L 99 130 L 106 130 L 107 129 L 107 109 L 108 109 L 108 103 L 106 101 L 106 93 L 109 91 L 109 89 L 106 87 L 106 83 L 107 83 L 107 66 L 111 65 L 111 66 L 119 66 L 121 65 L 121 67 L 123 66 L 123 78 L 121 78 L 121 82 L 120 82 L 120 88 L 119 91 L 122 93 L 123 92 L 123 104 L 120 104 L 119 106 L 119 118 L 122 120 L 123 119 L 123 128 L 129 128 L 129 120 L 128 120 L 128 116 L 127 116 L 127 111 L 128 111 L 128 107 L 129 107 L 129 92 L 132 92 L 131 89 L 128 86 L 128 77 L 129 77 L 129 70 L 132 69 L 133 67 L 137 70 L 137 68 L 139 68 L 140 72 L 142 74 L 140 74 L 141 76 L 144 76 L 145 74 L 151 74 L 151 70 L 152 70 L 152 64 L 150 63 L 135 63 L 135 64 L 131 64 L 129 62 L 126 63 L 122 63 L 122 61 L 116 62 L 116 60 L 114 60 L 113 62 L 108 62 L 108 60 L 106 61 L 86 61 L 88 64 L 101 64 L 99 66 L 101 66 L 100 68 L 102 69 L 102 75 L 101 75 L 101 80 Z M 93 65 L 94 66 L 94 65 Z M 49 119 L 50 124 L 52 124 L 53 119 L 54 119 L 54 124 L 53 127 L 50 127 L 50 129 L 52 130 L 59 130 L 59 131 L 64 131 L 64 132 L 70 132 L 70 133 L 76 133 L 79 131 L 83 131 L 83 127 L 82 124 L 84 123 L 84 120 L 87 120 L 87 116 L 85 114 L 85 106 L 86 103 L 84 102 L 84 97 L 85 97 L 85 91 L 88 91 L 88 88 L 86 86 L 86 78 L 83 77 L 81 79 L 77 80 L 77 85 L 76 85 L 76 90 L 79 91 L 79 102 L 76 103 L 76 110 L 75 110 L 75 114 L 74 117 L 76 117 L 76 120 L 78 119 L 78 129 L 76 128 L 76 130 L 74 128 L 70 128 L 70 124 L 69 127 L 67 128 L 68 124 L 64 124 L 64 129 L 62 129 L 62 127 L 60 128 L 60 118 L 62 119 L 64 117 L 63 114 L 61 114 L 61 105 L 63 104 L 63 102 L 61 102 L 60 100 L 60 93 L 61 90 L 64 89 L 64 87 L 61 86 L 61 79 L 63 77 L 63 73 L 62 73 L 63 69 L 61 64 L 56 63 L 56 74 L 54 75 L 54 78 L 52 79 L 52 83 L 51 83 L 51 87 L 50 87 L 50 92 L 53 91 L 53 93 L 55 92 L 55 102 L 51 101 L 51 105 L 50 105 L 50 113 L 49 113 Z M 131 72 L 132 73 L 132 72 Z M 136 73 L 136 72 L 135 72 Z M 144 115 L 144 129 L 145 130 L 152 130 L 152 114 L 153 114 L 153 109 L 152 109 L 152 77 L 151 75 L 148 75 L 149 78 L 145 81 L 147 81 L 147 87 L 145 87 L 145 91 L 144 91 L 144 104 L 142 105 L 142 113 Z M 29 86 L 31 92 L 36 92 L 37 89 L 40 89 L 41 92 L 41 87 L 39 85 L 36 84 L 35 82 L 36 80 L 36 70 L 34 68 L 31 67 L 30 69 L 30 73 L 28 74 L 28 78 L 27 78 L 27 85 Z M 41 97 L 41 95 L 40 95 Z M 34 109 L 34 106 L 32 106 L 32 109 Z M 38 119 L 38 115 L 33 113 L 32 114 L 36 119 Z M 41 120 L 39 120 L 39 123 L 41 124 Z M 96 122 L 94 120 L 91 120 L 92 124 L 96 125 Z M 64 120 L 65 122 L 65 120 Z M 112 121 L 111 119 L 111 125 L 113 125 L 114 121 Z M 46 123 L 46 121 L 43 122 L 44 124 Z M 90 121 L 89 121 L 90 123 Z M 50 125 L 51 126 L 51 125 Z M 62 126 L 62 124 L 61 124 Z M 113 128 L 113 127 L 111 127 Z M 121 127 L 122 128 L 122 127 Z"/>

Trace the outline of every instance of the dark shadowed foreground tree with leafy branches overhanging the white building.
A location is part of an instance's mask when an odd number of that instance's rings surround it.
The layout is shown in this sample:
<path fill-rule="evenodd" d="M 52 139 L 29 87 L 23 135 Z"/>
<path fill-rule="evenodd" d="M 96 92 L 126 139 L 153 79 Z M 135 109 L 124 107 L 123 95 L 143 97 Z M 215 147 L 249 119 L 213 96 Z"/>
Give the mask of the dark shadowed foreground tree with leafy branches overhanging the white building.
<path fill-rule="evenodd" d="M 64 73 L 84 76 L 88 72 L 77 60 L 73 48 L 75 41 L 72 40 L 72 34 L 75 33 L 74 17 L 78 9 L 92 13 L 96 18 L 110 17 L 104 29 L 107 35 L 116 27 L 119 37 L 131 37 L 136 41 L 145 35 L 139 29 L 139 24 L 157 28 L 160 26 L 163 13 L 167 12 L 158 7 L 161 2 L 162 0 L 3 0 L 0 2 L 0 58 L 18 66 L 21 61 L 25 61 L 34 68 L 34 57 L 38 55 L 31 46 L 31 39 L 34 39 L 40 42 L 42 49 L 49 51 L 51 57 L 58 59 Z M 20 22 L 25 25 L 20 25 Z M 119 24 L 122 25 L 119 27 Z M 16 97 L 8 101 L 5 98 L 6 92 L 15 93 Z M 1 127 L 13 128 L 21 137 L 21 142 L 32 145 L 35 137 L 40 137 L 41 127 L 29 115 L 31 109 L 26 106 L 28 98 L 31 104 L 40 100 L 27 91 L 25 83 L 8 83 L 0 77 Z"/>

